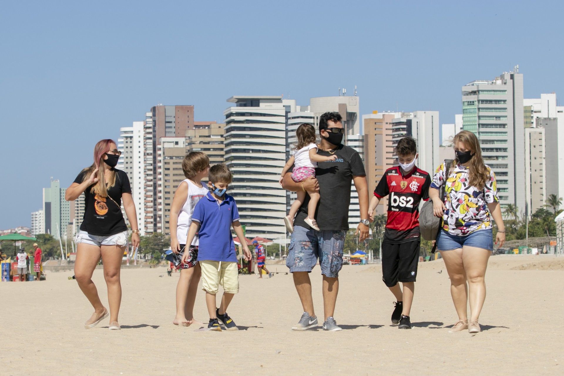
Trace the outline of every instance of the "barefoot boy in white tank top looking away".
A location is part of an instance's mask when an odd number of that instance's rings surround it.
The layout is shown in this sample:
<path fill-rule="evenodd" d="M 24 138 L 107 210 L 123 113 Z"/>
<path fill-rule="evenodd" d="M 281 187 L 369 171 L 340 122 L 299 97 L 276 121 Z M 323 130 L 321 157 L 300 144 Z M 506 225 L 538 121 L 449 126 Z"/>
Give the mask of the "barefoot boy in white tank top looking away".
<path fill-rule="evenodd" d="M 202 275 L 198 260 L 198 237 L 192 244 L 186 244 L 188 228 L 192 223 L 192 213 L 196 204 L 209 189 L 202 184 L 202 178 L 208 176 L 210 160 L 202 152 L 190 152 L 184 157 L 182 170 L 186 179 L 178 185 L 174 192 L 173 204 L 170 207 L 170 249 L 173 251 L 173 264 L 180 271 L 176 290 L 176 316 L 174 325 L 190 326 L 194 320 L 193 309 L 196 300 L 198 282 Z M 184 252 L 189 252 L 186 262 L 182 262 Z"/>

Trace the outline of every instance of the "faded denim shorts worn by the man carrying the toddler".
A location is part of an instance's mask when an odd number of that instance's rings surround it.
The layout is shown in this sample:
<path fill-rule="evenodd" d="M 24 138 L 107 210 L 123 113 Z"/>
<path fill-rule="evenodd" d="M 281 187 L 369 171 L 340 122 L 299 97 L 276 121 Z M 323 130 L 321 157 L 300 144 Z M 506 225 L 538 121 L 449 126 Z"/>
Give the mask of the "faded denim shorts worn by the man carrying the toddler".
<path fill-rule="evenodd" d="M 294 226 L 286 266 L 293 272 L 311 272 L 317 264 L 325 277 L 336 278 L 343 266 L 345 231 L 308 230 Z"/>

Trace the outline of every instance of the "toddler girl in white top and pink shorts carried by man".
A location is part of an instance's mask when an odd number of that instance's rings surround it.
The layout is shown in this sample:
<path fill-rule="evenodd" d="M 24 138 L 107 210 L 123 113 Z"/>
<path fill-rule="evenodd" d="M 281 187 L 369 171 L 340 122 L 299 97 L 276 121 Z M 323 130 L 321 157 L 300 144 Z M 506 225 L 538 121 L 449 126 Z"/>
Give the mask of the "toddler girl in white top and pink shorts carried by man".
<path fill-rule="evenodd" d="M 294 166 L 292 171 L 292 180 L 297 183 L 302 183 L 303 180 L 306 180 L 310 176 L 315 178 L 315 167 L 317 167 L 317 162 L 330 162 L 337 159 L 336 155 L 321 156 L 317 153 L 318 145 L 315 144 L 315 129 L 312 125 L 307 123 L 300 125 L 296 130 L 296 138 L 298 140 L 297 144 L 294 145 L 296 148 L 292 152 L 292 157 L 290 157 L 282 169 L 282 173 L 280 174 L 280 184 L 282 184 L 284 175 L 292 168 L 292 166 Z M 315 209 L 317 208 L 317 204 L 319 202 L 319 192 L 300 189 L 296 192 L 296 201 L 294 201 L 290 207 L 288 215 L 284 217 L 284 224 L 290 234 L 294 231 L 294 216 L 298 213 L 299 207 L 302 206 L 303 201 L 306 198 L 306 193 L 309 194 L 310 201 L 309 204 L 307 204 L 307 216 L 304 219 L 304 222 L 315 231 L 319 231 L 319 227 L 314 218 Z"/>

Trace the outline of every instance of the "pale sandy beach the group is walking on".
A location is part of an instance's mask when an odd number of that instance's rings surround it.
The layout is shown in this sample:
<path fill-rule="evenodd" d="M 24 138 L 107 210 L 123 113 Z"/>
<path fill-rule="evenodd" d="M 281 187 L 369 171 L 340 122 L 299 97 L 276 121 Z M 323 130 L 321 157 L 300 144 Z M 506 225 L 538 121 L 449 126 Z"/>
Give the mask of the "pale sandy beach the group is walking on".
<path fill-rule="evenodd" d="M 287 271 L 284 265 L 270 271 Z M 0 283 L 0 374 L 564 374 L 564 258 L 490 258 L 482 333 L 448 333 L 457 321 L 442 260 L 420 263 L 412 330 L 391 326 L 393 295 L 379 265 L 344 266 L 335 319 L 340 332 L 290 330 L 302 314 L 292 276 L 240 276 L 228 313 L 240 331 L 172 324 L 178 273 L 122 270 L 121 331 L 86 330 L 92 308 L 72 272 L 45 282 Z M 439 273 L 442 271 L 442 273 Z M 323 316 L 319 266 L 311 273 Z M 94 273 L 102 301 L 102 270 Z M 196 319 L 207 321 L 204 294 Z M 26 317 L 24 319 L 23 317 Z"/>

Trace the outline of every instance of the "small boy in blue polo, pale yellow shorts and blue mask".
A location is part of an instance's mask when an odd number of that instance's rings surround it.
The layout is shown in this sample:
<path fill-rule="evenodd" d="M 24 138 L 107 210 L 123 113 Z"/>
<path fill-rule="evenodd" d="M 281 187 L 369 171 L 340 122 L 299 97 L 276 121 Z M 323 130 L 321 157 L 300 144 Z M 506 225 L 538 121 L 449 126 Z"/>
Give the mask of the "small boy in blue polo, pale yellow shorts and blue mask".
<path fill-rule="evenodd" d="M 239 223 L 239 211 L 235 200 L 225 193 L 231 183 L 231 171 L 226 165 L 215 165 L 210 168 L 208 176 L 208 187 L 211 192 L 196 204 L 186 244 L 192 244 L 192 239 L 196 233 L 198 234 L 202 290 L 206 291 L 206 306 L 210 315 L 208 329 L 221 331 L 218 322 L 221 320 L 227 330 L 239 330 L 227 315 L 227 307 L 233 295 L 239 293 L 239 269 L 231 226 L 243 245 L 245 260 L 250 260 L 251 255 Z M 187 253 L 182 257 L 183 262 L 184 258 L 188 258 Z M 215 294 L 219 291 L 219 285 L 224 291 L 221 305 L 216 308 Z"/>

